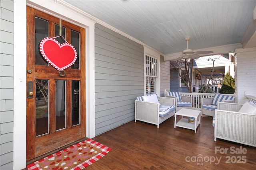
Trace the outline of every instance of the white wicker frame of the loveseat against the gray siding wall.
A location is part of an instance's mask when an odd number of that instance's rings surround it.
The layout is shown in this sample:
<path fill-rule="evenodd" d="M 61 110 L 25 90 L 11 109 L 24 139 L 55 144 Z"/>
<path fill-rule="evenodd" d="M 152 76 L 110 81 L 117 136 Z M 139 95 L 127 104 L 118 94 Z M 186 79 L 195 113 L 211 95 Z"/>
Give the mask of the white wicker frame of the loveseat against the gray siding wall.
<path fill-rule="evenodd" d="M 159 116 L 159 106 L 160 104 L 162 104 L 175 107 L 174 99 L 158 97 L 158 100 L 160 103 L 135 100 L 135 122 L 136 120 L 144 121 L 157 125 L 157 128 L 159 128 L 160 123 L 172 117 L 174 115 L 175 109 L 173 111 L 170 111 L 170 113 L 168 113 L 164 117 L 161 117 Z"/>

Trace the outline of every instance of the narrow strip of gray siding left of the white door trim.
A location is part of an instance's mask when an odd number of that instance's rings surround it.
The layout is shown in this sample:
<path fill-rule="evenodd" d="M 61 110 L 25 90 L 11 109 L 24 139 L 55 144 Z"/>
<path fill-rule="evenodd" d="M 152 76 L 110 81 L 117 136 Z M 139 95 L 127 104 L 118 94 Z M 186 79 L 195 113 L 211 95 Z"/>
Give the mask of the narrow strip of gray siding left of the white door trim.
<path fill-rule="evenodd" d="M 13 169 L 13 1 L 0 0 L 0 169 Z"/>

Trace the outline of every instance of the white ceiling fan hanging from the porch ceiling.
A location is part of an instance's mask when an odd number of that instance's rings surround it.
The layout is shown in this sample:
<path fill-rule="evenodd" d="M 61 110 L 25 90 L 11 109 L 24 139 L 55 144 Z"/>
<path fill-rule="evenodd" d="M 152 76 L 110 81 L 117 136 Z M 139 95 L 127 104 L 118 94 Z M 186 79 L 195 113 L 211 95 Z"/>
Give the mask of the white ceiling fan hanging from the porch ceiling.
<path fill-rule="evenodd" d="M 190 40 L 190 37 L 186 37 L 185 40 L 187 41 L 187 48 L 182 51 L 182 57 L 179 57 L 175 61 L 180 59 L 198 59 L 200 57 L 199 54 L 213 53 L 213 51 L 193 51 L 188 48 L 188 40 Z"/>

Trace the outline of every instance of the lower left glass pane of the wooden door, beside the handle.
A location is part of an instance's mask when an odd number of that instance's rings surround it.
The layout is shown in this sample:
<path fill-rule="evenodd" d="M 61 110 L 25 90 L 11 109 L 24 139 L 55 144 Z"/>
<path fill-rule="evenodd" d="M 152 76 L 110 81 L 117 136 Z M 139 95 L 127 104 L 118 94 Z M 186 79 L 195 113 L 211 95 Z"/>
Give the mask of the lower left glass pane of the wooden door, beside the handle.
<path fill-rule="evenodd" d="M 36 136 L 49 133 L 48 80 L 36 79 Z"/>

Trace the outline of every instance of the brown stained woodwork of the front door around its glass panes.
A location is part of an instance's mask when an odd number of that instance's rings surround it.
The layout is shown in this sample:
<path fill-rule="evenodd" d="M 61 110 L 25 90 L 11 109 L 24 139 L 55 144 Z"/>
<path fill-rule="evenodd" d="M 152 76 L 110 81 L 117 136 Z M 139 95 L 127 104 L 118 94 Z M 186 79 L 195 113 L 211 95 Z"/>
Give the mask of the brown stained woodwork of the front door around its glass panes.
<path fill-rule="evenodd" d="M 36 64 L 36 59 L 39 59 L 38 61 L 40 61 L 41 58 L 36 57 L 37 54 L 40 52 L 37 51 L 36 47 L 38 47 L 38 44 L 35 43 L 40 42 L 40 39 L 38 38 L 44 38 L 35 32 L 36 28 L 40 28 L 40 24 L 36 23 L 36 18 L 40 18 L 38 20 L 44 20 L 48 23 L 44 25 L 47 27 L 48 35 L 46 34 L 44 36 L 56 36 L 56 31 L 59 31 L 58 29 L 56 30 L 56 25 L 58 25 L 58 23 L 60 22 L 59 18 L 53 17 L 34 8 L 27 7 L 27 22 L 31 22 L 27 25 L 27 69 L 32 70 L 30 74 L 27 74 L 27 82 L 34 82 L 34 90 L 38 90 L 36 80 L 48 80 L 48 90 L 46 90 L 48 94 L 48 96 L 46 97 L 48 98 L 48 102 L 46 102 L 46 106 L 48 108 L 48 111 L 46 111 L 46 113 L 48 113 L 47 117 L 36 119 L 35 113 L 37 113 L 36 108 L 38 106 L 38 102 L 35 102 L 35 98 L 27 98 L 27 160 L 32 160 L 37 156 L 52 152 L 52 150 L 58 149 L 62 146 L 68 145 L 69 143 L 80 140 L 85 137 L 86 133 L 85 29 L 62 20 L 62 27 L 65 28 L 65 31 L 62 31 L 62 35 L 65 36 L 67 42 L 72 41 L 72 31 L 74 31 L 74 33 L 78 33 L 79 38 L 78 40 L 76 40 L 76 42 L 79 44 L 76 46 L 76 51 L 78 52 L 79 69 L 72 67 L 66 68 L 66 76 L 60 77 L 58 70 L 56 70 L 52 66 L 49 66 L 48 64 L 45 64 L 45 62 Z M 44 71 L 42 72 L 42 70 Z M 64 101 L 62 101 L 64 102 L 64 108 L 62 109 L 64 109 L 65 113 L 65 124 L 64 127 L 60 128 L 61 130 L 59 131 L 56 129 L 58 119 L 56 113 L 56 106 L 57 102 L 59 101 L 59 99 L 57 99 L 56 93 L 58 91 L 56 83 L 57 80 L 65 82 L 64 88 L 61 88 L 61 90 L 64 91 L 64 94 L 62 96 L 64 97 Z M 74 82 L 77 81 L 79 84 L 78 111 L 75 111 L 72 109 L 72 107 L 74 107 L 74 100 L 72 99 L 74 98 L 74 92 L 72 91 L 72 89 L 75 88 Z M 35 94 L 36 91 L 34 91 L 34 96 Z M 75 113 L 78 113 L 79 117 L 78 122 L 76 122 L 74 126 L 72 126 L 73 111 Z M 39 136 L 37 136 L 36 132 L 38 131 L 38 129 L 36 127 L 40 124 L 40 122 L 44 122 L 42 120 L 46 120 L 46 122 L 48 123 L 45 126 L 48 129 L 48 132 L 44 131 L 43 134 L 39 134 Z"/>

